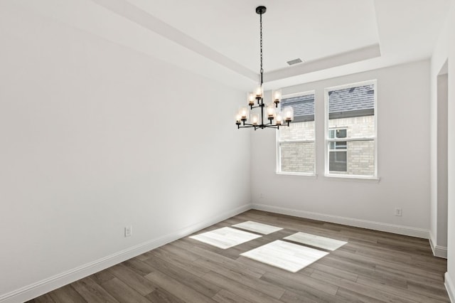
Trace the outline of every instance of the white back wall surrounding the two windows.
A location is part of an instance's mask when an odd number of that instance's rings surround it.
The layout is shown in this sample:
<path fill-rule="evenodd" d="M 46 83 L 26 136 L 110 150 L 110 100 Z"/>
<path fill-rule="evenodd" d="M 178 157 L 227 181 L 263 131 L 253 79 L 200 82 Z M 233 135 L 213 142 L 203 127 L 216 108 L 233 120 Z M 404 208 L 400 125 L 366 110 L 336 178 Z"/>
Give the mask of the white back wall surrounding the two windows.
<path fill-rule="evenodd" d="M 317 178 L 275 174 L 275 134 L 252 134 L 255 208 L 428 237 L 429 60 L 287 87 L 316 90 Z M 324 87 L 378 79 L 380 181 L 324 174 Z M 262 198 L 261 198 L 262 196 Z M 394 216 L 402 208 L 402 217 Z"/>

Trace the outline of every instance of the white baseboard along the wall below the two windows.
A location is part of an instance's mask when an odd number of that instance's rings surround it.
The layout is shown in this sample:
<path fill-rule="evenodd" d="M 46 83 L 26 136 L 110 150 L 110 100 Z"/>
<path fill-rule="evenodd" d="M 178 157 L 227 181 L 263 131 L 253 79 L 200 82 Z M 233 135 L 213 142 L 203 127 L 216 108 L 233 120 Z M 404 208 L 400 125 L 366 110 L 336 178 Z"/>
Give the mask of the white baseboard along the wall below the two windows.
<path fill-rule="evenodd" d="M 308 218 L 313 220 L 321 220 L 330 223 L 337 223 L 359 228 L 368 228 L 371 230 L 380 230 L 387 233 L 397 233 L 399 235 L 410 235 L 417 238 L 429 238 L 429 230 L 422 228 L 412 228 L 404 225 L 394 225 L 387 223 L 374 222 L 369 220 L 360 220 L 355 218 L 346 218 L 340 216 L 331 216 L 323 213 L 313 213 L 310 211 L 299 211 L 296 209 L 282 208 L 277 206 L 269 206 L 265 204 L 252 204 L 253 209 L 258 211 L 269 211 L 272 213 L 282 213 L 283 215 L 295 216 L 300 218 Z"/>

